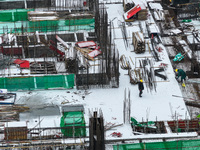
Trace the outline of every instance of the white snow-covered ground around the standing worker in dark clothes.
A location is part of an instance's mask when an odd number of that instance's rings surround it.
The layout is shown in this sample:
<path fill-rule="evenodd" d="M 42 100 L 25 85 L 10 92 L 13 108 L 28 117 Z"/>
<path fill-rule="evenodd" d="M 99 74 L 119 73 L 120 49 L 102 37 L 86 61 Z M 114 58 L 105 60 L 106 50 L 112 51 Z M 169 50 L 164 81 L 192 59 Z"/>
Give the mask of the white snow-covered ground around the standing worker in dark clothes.
<path fill-rule="evenodd" d="M 148 90 L 145 86 L 143 97 L 139 97 L 139 90 L 137 85 L 130 84 L 128 71 L 120 68 L 120 83 L 119 88 L 110 89 L 89 89 L 85 90 L 41 90 L 41 91 L 27 91 L 16 92 L 16 104 L 26 104 L 34 108 L 42 108 L 43 106 L 56 105 L 58 108 L 64 105 L 83 105 L 85 110 L 85 120 L 89 125 L 90 112 L 101 110 L 104 116 L 105 125 L 118 125 L 123 123 L 123 105 L 125 95 L 127 97 L 128 90 L 130 91 L 131 99 L 131 113 L 130 116 L 134 117 L 137 121 L 169 121 L 176 119 L 190 119 L 188 110 L 185 106 L 183 99 L 173 97 L 172 95 L 181 96 L 181 89 L 175 80 L 175 74 L 170 64 L 165 47 L 162 46 L 163 51 L 160 52 L 162 61 L 155 62 L 149 51 L 143 54 L 135 54 L 132 45 L 132 32 L 140 31 L 139 22 L 135 21 L 132 25 L 126 25 L 128 47 L 125 46 L 120 22 L 124 22 L 123 18 L 123 5 L 122 4 L 106 4 L 108 19 L 114 24 L 113 34 L 114 42 L 119 51 L 119 56 L 125 55 L 128 59 L 131 57 L 134 64 L 131 63 L 132 68 L 139 67 L 138 61 L 141 59 L 149 58 L 153 61 L 153 66 L 158 67 L 160 63 L 168 64 L 165 74 L 167 80 L 162 80 L 156 77 L 158 81 L 156 91 Z M 117 17 L 117 18 L 116 18 Z M 152 22 L 152 17 L 149 17 Z M 142 23 L 143 24 L 143 23 Z M 130 61 L 130 59 L 129 59 Z M 131 61 L 130 61 L 131 62 Z M 145 84 L 144 84 L 145 85 Z M 126 93 L 125 93 L 126 90 Z M 85 96 L 83 99 L 82 96 Z M 29 127 L 35 127 L 38 123 L 35 120 L 41 120 L 40 127 L 59 127 L 61 113 L 55 116 L 48 116 L 41 114 L 36 118 L 30 116 L 21 116 L 21 121 L 28 121 Z M 132 133 L 130 124 L 124 124 L 114 128 L 115 132 L 121 132 L 122 138 L 134 138 L 136 135 Z M 112 138 L 111 132 L 107 131 L 105 134 L 106 139 Z M 144 137 L 144 136 L 143 136 Z"/>

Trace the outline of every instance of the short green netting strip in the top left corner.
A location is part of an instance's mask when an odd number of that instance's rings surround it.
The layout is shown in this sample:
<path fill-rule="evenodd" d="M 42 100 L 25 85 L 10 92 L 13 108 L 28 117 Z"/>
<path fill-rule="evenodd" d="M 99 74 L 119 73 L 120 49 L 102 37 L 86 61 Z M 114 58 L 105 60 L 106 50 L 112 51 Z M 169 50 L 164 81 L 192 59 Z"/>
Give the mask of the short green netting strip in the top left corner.
<path fill-rule="evenodd" d="M 34 11 L 34 9 L 11 9 L 0 11 L 0 22 L 16 22 L 27 21 L 28 11 Z"/>

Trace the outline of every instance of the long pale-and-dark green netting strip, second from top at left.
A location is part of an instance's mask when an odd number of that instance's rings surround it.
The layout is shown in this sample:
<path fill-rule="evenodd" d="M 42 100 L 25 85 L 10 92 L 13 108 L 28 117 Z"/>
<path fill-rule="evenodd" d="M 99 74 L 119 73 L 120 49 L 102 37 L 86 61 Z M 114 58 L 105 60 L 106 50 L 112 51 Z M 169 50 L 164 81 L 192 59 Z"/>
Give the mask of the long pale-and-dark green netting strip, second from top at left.
<path fill-rule="evenodd" d="M 0 34 L 5 32 L 55 32 L 55 31 L 78 31 L 93 30 L 95 20 L 91 19 L 71 19 L 71 20 L 44 20 L 44 21 L 18 21 L 0 23 Z M 12 29 L 12 30 L 11 30 Z"/>

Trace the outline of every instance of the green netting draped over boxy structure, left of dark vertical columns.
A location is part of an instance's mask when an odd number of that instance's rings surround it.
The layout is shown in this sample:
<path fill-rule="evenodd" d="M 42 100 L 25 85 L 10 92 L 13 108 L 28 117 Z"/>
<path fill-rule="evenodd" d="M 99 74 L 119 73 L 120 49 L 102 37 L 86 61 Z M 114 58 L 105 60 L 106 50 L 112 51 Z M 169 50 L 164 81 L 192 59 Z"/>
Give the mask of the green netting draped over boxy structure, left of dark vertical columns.
<path fill-rule="evenodd" d="M 82 111 L 64 112 L 60 119 L 60 127 L 76 127 L 83 128 L 66 128 L 61 129 L 61 132 L 66 137 L 85 137 L 85 119 Z"/>

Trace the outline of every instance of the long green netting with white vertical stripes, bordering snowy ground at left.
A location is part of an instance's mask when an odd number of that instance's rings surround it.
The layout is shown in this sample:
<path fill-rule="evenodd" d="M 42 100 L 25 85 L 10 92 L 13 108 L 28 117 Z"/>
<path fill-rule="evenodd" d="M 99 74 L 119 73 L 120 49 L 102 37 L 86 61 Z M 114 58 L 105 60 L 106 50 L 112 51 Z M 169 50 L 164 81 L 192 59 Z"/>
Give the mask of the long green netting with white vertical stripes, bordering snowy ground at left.
<path fill-rule="evenodd" d="M 0 78 L 0 88 L 9 91 L 73 87 L 74 74 Z"/>

